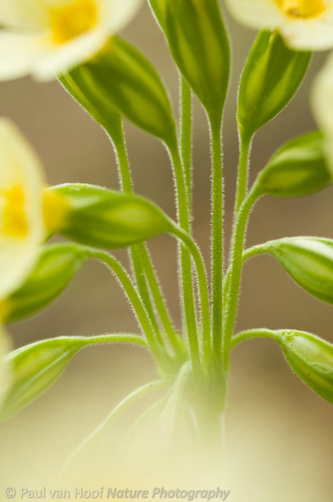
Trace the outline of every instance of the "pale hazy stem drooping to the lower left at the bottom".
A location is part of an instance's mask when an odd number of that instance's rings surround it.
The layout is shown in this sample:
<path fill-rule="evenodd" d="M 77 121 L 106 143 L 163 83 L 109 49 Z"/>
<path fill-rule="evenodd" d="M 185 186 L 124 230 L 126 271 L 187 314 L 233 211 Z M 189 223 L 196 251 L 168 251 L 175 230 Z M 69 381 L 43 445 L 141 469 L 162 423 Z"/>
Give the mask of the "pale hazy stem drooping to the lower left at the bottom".
<path fill-rule="evenodd" d="M 136 389 L 134 392 L 126 396 L 106 417 L 106 419 L 76 448 L 76 450 L 69 457 L 67 462 L 62 468 L 62 472 L 64 473 L 68 467 L 73 463 L 73 461 L 83 453 L 83 451 L 94 441 L 96 441 L 97 437 L 100 435 L 104 435 L 106 431 L 113 425 L 113 423 L 117 420 L 117 418 L 125 411 L 129 406 L 132 405 L 137 399 L 145 396 L 146 394 L 161 389 L 167 386 L 168 383 L 163 380 L 158 380 L 156 382 L 151 382 L 146 384 L 139 389 Z"/>

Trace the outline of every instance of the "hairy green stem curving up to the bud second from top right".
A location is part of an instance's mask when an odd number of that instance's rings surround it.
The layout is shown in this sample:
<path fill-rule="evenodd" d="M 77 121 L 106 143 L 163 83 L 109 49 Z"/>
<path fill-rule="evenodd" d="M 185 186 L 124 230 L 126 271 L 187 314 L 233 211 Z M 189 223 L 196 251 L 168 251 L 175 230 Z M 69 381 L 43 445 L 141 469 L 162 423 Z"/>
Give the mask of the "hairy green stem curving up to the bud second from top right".
<path fill-rule="evenodd" d="M 224 338 L 223 354 L 226 368 L 229 365 L 230 343 L 236 321 L 236 314 L 239 301 L 238 297 L 239 297 L 241 275 L 242 275 L 242 265 L 243 265 L 242 256 L 243 256 L 246 224 L 250 211 L 256 200 L 260 197 L 260 195 L 261 194 L 259 190 L 257 189 L 256 186 L 254 186 L 248 197 L 242 203 L 235 219 L 235 230 L 234 230 L 233 244 L 231 250 L 231 263 L 226 279 L 226 284 L 229 285 L 228 291 L 226 291 L 227 312 L 224 324 L 224 337 L 223 337 Z"/>

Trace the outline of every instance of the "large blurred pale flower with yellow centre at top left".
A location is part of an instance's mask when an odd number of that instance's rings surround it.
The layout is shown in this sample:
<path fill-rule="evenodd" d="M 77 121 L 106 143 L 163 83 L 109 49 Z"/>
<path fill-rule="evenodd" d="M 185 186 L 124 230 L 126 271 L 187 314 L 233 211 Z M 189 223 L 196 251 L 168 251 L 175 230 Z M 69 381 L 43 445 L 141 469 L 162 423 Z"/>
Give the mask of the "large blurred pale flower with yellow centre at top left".
<path fill-rule="evenodd" d="M 0 79 L 50 79 L 92 57 L 141 0 L 1 0 Z"/>

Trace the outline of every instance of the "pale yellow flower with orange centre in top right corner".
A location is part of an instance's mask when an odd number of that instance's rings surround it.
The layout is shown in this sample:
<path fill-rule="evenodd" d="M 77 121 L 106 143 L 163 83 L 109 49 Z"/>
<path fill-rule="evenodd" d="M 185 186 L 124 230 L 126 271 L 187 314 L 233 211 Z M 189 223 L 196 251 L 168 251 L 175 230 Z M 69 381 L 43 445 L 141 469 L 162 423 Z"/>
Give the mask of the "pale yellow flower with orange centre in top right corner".
<path fill-rule="evenodd" d="M 333 0 L 227 0 L 227 4 L 240 23 L 276 29 L 294 49 L 333 47 Z"/>

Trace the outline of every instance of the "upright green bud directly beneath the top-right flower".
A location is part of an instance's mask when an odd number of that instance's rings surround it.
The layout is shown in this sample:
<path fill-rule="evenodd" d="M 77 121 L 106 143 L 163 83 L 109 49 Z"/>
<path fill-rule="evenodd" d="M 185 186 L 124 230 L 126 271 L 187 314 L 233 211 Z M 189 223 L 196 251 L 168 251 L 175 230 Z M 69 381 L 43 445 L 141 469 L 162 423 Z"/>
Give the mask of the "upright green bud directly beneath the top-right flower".
<path fill-rule="evenodd" d="M 238 96 L 241 133 L 252 136 L 289 103 L 301 84 L 311 53 L 288 49 L 280 35 L 261 31 L 245 64 Z"/>

